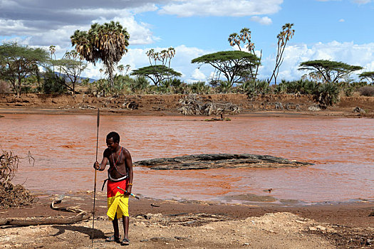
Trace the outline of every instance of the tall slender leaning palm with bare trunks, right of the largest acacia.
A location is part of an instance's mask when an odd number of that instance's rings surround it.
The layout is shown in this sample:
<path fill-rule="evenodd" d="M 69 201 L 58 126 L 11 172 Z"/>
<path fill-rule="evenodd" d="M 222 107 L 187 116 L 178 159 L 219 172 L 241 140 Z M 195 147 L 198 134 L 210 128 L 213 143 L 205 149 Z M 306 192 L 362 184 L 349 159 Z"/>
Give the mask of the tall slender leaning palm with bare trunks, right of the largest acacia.
<path fill-rule="evenodd" d="M 271 77 L 268 79 L 268 83 L 271 83 L 271 80 L 274 78 L 274 83 L 276 85 L 276 78 L 278 77 L 279 74 L 279 68 L 281 67 L 283 63 L 283 53 L 284 53 L 284 48 L 286 48 L 287 41 L 289 41 L 295 33 L 295 30 L 292 29 L 292 26 L 294 26 L 294 23 L 286 23 L 284 26 L 282 26 L 282 31 L 281 33 L 276 36 L 278 39 L 277 43 L 277 49 L 276 49 L 276 60 L 275 60 L 275 66 L 273 73 L 271 73 Z"/>

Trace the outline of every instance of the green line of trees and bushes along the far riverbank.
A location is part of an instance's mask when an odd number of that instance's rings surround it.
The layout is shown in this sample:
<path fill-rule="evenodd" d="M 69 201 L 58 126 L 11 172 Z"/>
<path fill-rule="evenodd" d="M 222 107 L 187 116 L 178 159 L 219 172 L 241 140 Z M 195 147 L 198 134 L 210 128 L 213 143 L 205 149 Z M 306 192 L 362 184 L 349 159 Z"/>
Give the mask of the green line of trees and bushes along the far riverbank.
<path fill-rule="evenodd" d="M 22 92 L 76 94 L 76 86 L 85 86 L 85 93 L 95 95 L 164 94 L 164 93 L 225 93 L 241 92 L 250 97 L 269 93 L 312 94 L 332 105 L 341 91 L 351 95 L 353 91 L 374 84 L 374 72 L 358 75 L 361 82 L 353 82 L 350 76 L 359 65 L 333 60 L 308 60 L 299 64 L 298 70 L 306 74 L 300 80 L 279 83 L 279 69 L 284 61 L 287 43 L 293 38 L 293 23 L 282 26 L 276 36 L 277 48 L 274 69 L 266 80 L 259 80 L 262 50 L 256 53 L 249 28 L 229 35 L 232 51 L 219 51 L 194 58 L 191 63 L 198 67 L 209 65 L 213 75 L 205 82 L 187 84 L 180 80 L 182 73 L 171 67 L 175 48 L 157 52 L 147 51 L 150 65 L 130 70 L 130 65 L 118 65 L 128 52 L 130 35 L 118 22 L 100 25 L 94 23 L 88 31 L 75 31 L 71 36 L 73 51 L 66 51 L 63 58 L 56 59 L 56 47 L 49 52 L 42 48 L 4 43 L 0 46 L 0 92 L 9 87 L 17 96 Z M 53 58 L 54 55 L 54 58 Z M 103 63 L 100 80 L 90 83 L 80 78 L 88 63 Z M 115 74 L 115 71 L 120 74 Z M 125 71 L 125 73 L 123 73 Z M 104 73 L 108 78 L 101 78 Z M 325 96 L 325 97 L 323 97 Z M 328 96 L 328 97 L 326 97 Z M 326 99 L 327 98 L 327 99 Z"/>

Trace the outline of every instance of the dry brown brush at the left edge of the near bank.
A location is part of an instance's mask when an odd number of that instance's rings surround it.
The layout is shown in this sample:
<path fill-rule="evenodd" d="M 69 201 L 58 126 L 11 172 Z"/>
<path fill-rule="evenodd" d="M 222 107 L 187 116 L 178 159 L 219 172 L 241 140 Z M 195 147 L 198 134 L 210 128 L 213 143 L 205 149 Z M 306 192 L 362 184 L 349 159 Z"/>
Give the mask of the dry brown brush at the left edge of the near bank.
<path fill-rule="evenodd" d="M 31 163 L 31 154 L 27 156 Z M 35 196 L 21 184 L 12 184 L 19 166 L 20 157 L 13 152 L 1 151 L 0 155 L 0 208 L 18 208 L 33 203 Z"/>

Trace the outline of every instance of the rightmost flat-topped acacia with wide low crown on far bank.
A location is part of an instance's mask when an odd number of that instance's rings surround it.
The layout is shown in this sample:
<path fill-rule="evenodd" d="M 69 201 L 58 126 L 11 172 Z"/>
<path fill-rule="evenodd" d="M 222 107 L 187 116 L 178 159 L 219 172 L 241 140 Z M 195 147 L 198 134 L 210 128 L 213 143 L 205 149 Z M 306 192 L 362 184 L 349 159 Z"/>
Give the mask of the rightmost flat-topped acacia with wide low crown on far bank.
<path fill-rule="evenodd" d="M 348 65 L 333 60 L 308 60 L 300 63 L 298 70 L 311 70 L 316 75 L 321 75 L 326 83 L 338 83 L 354 71 L 361 70 L 359 65 Z"/>

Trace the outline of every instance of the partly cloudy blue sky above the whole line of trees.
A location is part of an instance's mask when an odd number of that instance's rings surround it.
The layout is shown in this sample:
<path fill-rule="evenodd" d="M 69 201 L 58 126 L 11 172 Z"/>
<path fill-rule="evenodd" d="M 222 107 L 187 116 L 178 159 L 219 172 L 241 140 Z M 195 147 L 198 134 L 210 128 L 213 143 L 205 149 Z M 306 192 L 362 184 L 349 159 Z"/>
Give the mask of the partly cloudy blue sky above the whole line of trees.
<path fill-rule="evenodd" d="M 88 30 L 93 22 L 120 21 L 130 33 L 128 54 L 120 64 L 148 65 L 145 52 L 173 46 L 172 68 L 183 80 L 207 80 L 214 71 L 197 69 L 193 58 L 227 51 L 230 33 L 251 29 L 256 51 L 263 51 L 259 78 L 274 68 L 276 35 L 284 23 L 294 23 L 295 35 L 286 48 L 279 79 L 301 77 L 298 64 L 329 59 L 374 70 L 373 0 L 81 0 L 0 1 L 0 41 L 29 46 L 57 46 L 61 57 L 71 50 L 70 36 Z M 90 65 L 84 75 L 100 78 L 100 65 Z"/>

